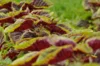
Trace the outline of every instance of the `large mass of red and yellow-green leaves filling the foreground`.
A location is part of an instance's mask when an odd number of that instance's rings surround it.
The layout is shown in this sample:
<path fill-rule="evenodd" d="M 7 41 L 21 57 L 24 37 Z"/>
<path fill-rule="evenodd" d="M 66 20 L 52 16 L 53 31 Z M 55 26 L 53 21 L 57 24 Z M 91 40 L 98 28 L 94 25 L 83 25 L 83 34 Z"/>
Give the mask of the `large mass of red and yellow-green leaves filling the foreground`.
<path fill-rule="evenodd" d="M 99 66 L 100 32 L 57 24 L 50 5 L 0 1 L 0 66 Z"/>

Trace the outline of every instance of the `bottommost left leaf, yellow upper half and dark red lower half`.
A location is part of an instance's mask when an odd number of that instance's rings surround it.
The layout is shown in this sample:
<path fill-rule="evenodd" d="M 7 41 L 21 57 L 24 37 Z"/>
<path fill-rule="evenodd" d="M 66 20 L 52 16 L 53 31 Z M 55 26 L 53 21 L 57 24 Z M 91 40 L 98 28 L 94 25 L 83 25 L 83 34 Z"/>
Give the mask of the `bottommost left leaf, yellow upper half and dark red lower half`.
<path fill-rule="evenodd" d="M 12 62 L 10 66 L 32 66 L 32 63 L 36 62 L 38 56 L 39 56 L 38 52 L 27 53 L 22 58 L 19 58 L 14 62 Z"/>

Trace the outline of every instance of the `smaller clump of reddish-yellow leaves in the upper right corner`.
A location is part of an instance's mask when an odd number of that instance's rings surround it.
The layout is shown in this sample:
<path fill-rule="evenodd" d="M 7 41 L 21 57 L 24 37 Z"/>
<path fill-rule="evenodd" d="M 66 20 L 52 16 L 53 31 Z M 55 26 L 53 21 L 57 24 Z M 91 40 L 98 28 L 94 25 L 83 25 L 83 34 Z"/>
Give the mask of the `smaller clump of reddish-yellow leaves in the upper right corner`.
<path fill-rule="evenodd" d="M 84 0 L 84 7 L 92 12 L 91 21 L 95 26 L 94 30 L 100 31 L 100 0 Z"/>

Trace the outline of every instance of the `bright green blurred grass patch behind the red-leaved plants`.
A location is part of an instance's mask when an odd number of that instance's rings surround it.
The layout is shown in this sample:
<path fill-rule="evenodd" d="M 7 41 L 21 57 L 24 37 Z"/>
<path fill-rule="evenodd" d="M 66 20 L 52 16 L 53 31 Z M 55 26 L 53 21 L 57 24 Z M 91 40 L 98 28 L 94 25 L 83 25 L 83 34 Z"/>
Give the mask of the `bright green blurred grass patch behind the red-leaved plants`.
<path fill-rule="evenodd" d="M 80 20 L 86 19 L 91 15 L 90 12 L 84 10 L 82 6 L 83 0 L 51 0 L 53 6 L 50 8 L 60 20 Z"/>

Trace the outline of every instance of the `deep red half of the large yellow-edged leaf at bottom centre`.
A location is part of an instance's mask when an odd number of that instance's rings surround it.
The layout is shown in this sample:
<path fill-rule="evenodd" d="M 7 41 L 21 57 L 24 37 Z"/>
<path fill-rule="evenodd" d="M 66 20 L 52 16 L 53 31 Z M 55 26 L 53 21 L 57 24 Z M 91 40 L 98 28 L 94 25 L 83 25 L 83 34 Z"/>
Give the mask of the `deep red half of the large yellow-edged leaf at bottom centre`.
<path fill-rule="evenodd" d="M 73 50 L 71 47 L 62 49 L 54 59 L 50 60 L 48 64 L 56 64 L 72 57 Z"/>

